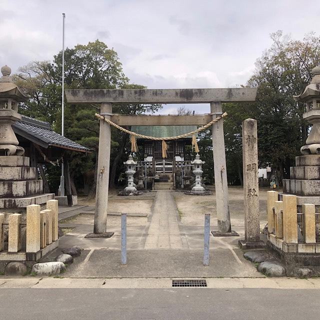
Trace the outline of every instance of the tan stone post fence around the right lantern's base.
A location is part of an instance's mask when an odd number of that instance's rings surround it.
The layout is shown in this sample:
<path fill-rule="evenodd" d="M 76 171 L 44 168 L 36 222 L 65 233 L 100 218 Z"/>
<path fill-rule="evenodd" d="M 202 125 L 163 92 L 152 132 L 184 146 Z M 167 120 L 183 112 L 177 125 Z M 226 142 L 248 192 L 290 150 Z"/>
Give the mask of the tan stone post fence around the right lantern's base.
<path fill-rule="evenodd" d="M 297 212 L 296 195 L 267 191 L 268 240 L 284 252 L 319 253 L 315 205 L 303 203 Z M 299 236 L 298 236 L 299 232 Z"/>

